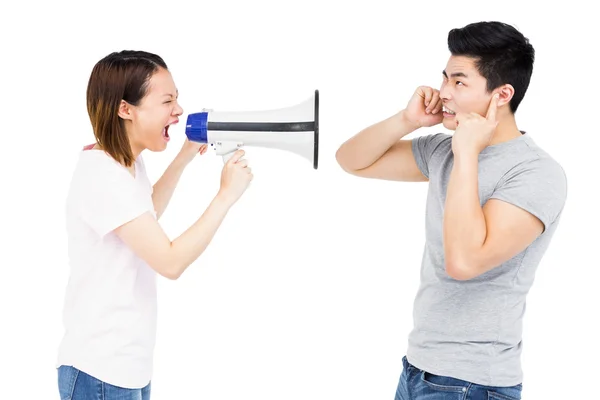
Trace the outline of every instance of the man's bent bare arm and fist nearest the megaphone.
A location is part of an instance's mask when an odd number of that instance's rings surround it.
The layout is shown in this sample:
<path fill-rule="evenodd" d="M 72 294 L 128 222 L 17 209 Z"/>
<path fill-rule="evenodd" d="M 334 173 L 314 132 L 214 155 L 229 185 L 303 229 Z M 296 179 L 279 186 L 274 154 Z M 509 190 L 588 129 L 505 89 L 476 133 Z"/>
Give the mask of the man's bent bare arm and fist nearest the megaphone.
<path fill-rule="evenodd" d="M 412 152 L 412 141 L 402 138 L 442 120 L 439 92 L 419 87 L 406 109 L 362 130 L 340 146 L 336 160 L 344 171 L 365 178 L 424 182 Z"/>

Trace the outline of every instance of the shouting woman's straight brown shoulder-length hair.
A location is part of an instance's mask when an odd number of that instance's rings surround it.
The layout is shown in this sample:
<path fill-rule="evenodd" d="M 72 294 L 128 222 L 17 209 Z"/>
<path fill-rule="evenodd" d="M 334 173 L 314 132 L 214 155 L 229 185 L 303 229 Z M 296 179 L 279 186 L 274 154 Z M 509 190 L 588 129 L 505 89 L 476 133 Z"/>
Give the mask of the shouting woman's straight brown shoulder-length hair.
<path fill-rule="evenodd" d="M 138 105 L 159 68 L 168 69 L 159 56 L 124 50 L 104 57 L 94 66 L 87 87 L 87 110 L 98 144 L 119 163 L 129 167 L 134 157 L 119 117 L 121 100 Z"/>

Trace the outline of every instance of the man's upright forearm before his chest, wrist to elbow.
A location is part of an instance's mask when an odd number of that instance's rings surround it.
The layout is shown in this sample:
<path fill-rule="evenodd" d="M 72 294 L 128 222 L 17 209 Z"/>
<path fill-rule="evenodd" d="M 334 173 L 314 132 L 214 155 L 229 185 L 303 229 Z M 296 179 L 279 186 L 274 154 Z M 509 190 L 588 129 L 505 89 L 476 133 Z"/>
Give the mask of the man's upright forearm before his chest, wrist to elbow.
<path fill-rule="evenodd" d="M 444 253 L 451 275 L 464 279 L 473 276 L 486 236 L 479 199 L 478 155 L 455 156 L 444 208 Z"/>

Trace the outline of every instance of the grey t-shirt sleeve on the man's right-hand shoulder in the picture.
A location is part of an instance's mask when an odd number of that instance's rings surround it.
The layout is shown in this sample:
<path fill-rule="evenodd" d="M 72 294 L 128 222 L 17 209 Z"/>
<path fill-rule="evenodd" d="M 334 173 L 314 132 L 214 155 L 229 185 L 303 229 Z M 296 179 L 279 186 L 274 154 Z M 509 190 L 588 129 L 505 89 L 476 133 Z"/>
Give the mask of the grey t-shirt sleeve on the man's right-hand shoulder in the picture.
<path fill-rule="evenodd" d="M 536 216 L 544 231 L 558 218 L 567 198 L 567 178 L 551 158 L 520 164 L 502 177 L 491 197 L 513 204 Z"/>

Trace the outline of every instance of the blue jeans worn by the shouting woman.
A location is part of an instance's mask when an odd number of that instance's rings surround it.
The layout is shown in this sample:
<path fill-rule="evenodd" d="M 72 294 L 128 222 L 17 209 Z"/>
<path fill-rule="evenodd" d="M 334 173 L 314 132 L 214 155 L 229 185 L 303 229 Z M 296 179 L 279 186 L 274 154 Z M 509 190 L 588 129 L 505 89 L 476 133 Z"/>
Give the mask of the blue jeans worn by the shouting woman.
<path fill-rule="evenodd" d="M 150 384 L 125 389 L 102 382 L 74 367 L 58 368 L 60 400 L 150 400 Z"/>

